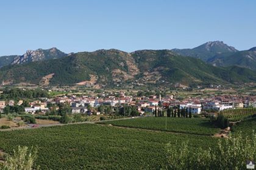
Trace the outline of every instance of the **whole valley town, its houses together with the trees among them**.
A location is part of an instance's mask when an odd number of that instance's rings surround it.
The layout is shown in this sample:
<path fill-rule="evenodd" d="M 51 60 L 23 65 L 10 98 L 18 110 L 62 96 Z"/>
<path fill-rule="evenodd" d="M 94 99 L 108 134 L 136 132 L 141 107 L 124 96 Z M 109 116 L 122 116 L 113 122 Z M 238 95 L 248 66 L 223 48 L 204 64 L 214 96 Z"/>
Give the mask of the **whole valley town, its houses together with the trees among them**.
<path fill-rule="evenodd" d="M 30 92 L 31 90 L 9 89 L 1 93 L 4 95 L 4 93 L 15 93 L 15 91 L 22 93 Z M 193 117 L 208 117 L 210 115 L 216 116 L 222 110 L 256 107 L 256 97 L 254 95 L 225 94 L 205 97 L 184 97 L 180 99 L 179 94 L 176 93 L 166 94 L 165 92 L 147 91 L 101 90 L 97 92 L 92 90 L 89 94 L 86 93 L 86 95 L 83 93 L 66 94 L 65 91 L 59 92 L 60 95 L 52 97 L 48 95 L 52 93 L 52 90 L 40 89 L 40 92 L 45 94 L 45 96 L 38 97 L 36 100 L 33 100 L 33 98 L 24 100 L 20 98 L 5 98 L 5 100 L 0 100 L 1 113 L 5 115 L 16 114 L 15 117 L 31 116 L 37 120 L 49 119 L 60 121 L 60 123 L 72 123 L 88 121 L 90 116 L 96 116 L 90 121 L 136 116 L 161 117 L 165 114 L 169 117 L 176 117 L 174 114 L 167 114 L 168 108 L 177 108 L 177 117 L 182 116 L 180 112 L 183 109 L 187 112 L 187 115 L 191 114 Z M 157 114 L 157 112 L 162 114 Z M 80 117 L 78 120 L 68 119 L 61 121 L 61 117 L 65 114 L 73 118 L 77 117 L 77 115 L 80 115 Z M 113 117 L 113 115 L 116 117 Z M 42 123 L 42 121 L 40 122 Z M 37 121 L 33 119 L 29 123 L 36 124 Z M 46 121 L 47 123 L 48 121 Z"/>

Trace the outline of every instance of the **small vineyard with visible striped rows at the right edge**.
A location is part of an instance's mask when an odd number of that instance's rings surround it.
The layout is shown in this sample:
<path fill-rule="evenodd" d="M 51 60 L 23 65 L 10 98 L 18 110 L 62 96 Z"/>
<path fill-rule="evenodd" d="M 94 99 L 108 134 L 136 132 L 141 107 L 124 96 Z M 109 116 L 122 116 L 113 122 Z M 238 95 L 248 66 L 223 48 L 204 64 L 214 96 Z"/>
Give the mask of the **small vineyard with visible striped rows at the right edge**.
<path fill-rule="evenodd" d="M 221 112 L 230 121 L 243 120 L 246 117 L 256 114 L 256 108 L 228 109 Z"/>

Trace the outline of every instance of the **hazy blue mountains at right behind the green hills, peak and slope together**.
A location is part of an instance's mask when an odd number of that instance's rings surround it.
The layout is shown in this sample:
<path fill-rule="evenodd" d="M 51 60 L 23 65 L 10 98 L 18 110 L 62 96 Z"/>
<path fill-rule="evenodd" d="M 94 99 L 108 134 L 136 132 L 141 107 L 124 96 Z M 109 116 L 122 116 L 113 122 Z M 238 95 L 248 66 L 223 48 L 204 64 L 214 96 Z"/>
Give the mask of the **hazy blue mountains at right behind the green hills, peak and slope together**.
<path fill-rule="evenodd" d="M 199 58 L 213 66 L 240 66 L 256 70 L 256 47 L 238 51 L 222 41 L 210 41 L 194 49 L 172 49 L 172 51 Z"/>

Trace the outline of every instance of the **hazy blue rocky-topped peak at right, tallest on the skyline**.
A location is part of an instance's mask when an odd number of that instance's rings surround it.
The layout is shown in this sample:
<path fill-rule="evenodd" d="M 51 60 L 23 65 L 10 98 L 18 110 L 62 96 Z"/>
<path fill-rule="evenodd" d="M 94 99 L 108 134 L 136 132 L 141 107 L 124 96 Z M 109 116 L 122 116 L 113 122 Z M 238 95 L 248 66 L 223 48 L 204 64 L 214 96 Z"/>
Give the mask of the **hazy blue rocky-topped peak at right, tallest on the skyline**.
<path fill-rule="evenodd" d="M 172 51 L 184 56 L 191 56 L 207 61 L 215 55 L 231 55 L 238 52 L 234 47 L 224 44 L 223 41 L 210 41 L 195 47 L 194 49 L 172 49 Z"/>

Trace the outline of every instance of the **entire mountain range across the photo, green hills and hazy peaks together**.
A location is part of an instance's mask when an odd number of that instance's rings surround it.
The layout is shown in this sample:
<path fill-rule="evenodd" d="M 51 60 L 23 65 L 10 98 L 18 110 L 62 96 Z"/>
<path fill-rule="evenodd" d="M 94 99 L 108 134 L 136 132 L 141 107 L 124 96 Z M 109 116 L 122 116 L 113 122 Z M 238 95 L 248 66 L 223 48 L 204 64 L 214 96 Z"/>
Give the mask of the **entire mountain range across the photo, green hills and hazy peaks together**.
<path fill-rule="evenodd" d="M 132 53 L 110 49 L 68 55 L 56 48 L 27 50 L 24 55 L 0 57 L 0 81 L 2 85 L 94 87 L 255 83 L 255 49 L 238 51 L 224 42 L 213 41 L 194 49 Z"/>

